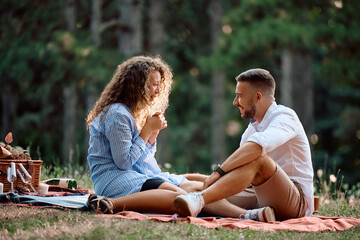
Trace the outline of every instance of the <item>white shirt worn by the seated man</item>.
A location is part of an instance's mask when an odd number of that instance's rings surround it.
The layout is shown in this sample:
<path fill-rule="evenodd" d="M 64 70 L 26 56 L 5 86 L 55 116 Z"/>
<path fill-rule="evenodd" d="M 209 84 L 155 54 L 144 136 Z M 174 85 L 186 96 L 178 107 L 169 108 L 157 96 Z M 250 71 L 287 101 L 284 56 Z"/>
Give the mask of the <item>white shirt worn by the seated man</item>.
<path fill-rule="evenodd" d="M 314 211 L 314 172 L 309 141 L 295 111 L 274 102 L 260 123 L 249 123 L 240 146 L 246 142 L 262 146 L 262 155 L 271 157 L 300 184 L 308 204 L 306 216 L 310 216 Z"/>

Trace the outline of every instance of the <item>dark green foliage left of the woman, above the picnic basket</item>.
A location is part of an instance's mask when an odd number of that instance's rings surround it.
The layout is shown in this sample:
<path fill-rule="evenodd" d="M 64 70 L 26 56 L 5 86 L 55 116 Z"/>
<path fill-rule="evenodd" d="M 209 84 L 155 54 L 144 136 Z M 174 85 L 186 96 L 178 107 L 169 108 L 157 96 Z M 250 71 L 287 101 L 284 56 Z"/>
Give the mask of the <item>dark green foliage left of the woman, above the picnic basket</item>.
<path fill-rule="evenodd" d="M 83 96 L 78 98 L 81 117 L 76 135 L 79 147 L 86 148 L 83 140 L 87 114 L 85 87 L 93 84 L 103 88 L 122 58 L 111 49 L 94 48 L 81 21 L 75 35 L 65 31 L 62 14 L 58 13 L 65 2 L 17 3 L 3 1 L 0 8 L 1 85 L 13 102 L 8 108 L 12 118 L 7 127 L 18 136 L 17 145 L 29 146 L 33 159 L 55 163 L 62 155 L 62 89 L 75 83 L 77 94 Z M 76 148 L 74 146 L 74 151 Z M 43 155 L 38 154 L 40 152 Z"/>

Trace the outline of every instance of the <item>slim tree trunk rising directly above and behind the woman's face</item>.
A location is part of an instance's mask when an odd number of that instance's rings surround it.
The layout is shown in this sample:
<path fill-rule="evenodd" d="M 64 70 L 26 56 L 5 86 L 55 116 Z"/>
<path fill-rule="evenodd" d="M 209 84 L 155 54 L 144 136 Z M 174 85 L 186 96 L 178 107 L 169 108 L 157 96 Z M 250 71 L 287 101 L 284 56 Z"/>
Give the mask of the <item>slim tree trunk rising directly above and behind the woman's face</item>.
<path fill-rule="evenodd" d="M 149 48 L 152 55 L 162 56 L 164 53 L 164 0 L 149 1 Z M 156 158 L 160 165 L 170 163 L 169 152 L 169 129 L 165 128 L 160 131 L 157 138 Z"/>

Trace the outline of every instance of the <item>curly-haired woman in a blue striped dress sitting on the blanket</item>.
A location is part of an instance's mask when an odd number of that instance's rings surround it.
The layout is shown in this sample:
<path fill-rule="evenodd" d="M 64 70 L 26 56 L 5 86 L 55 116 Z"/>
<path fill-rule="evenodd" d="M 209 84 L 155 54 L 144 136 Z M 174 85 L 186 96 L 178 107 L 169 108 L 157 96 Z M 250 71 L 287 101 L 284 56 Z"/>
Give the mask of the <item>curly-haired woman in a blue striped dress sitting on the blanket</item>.
<path fill-rule="evenodd" d="M 86 121 L 96 193 L 89 197 L 90 208 L 172 214 L 176 196 L 202 190 L 202 182 L 161 172 L 154 157 L 159 131 L 167 127 L 164 111 L 171 85 L 170 67 L 159 57 L 137 56 L 117 67 Z M 234 205 L 219 202 L 225 207 L 214 203 L 205 211 L 241 214 Z"/>

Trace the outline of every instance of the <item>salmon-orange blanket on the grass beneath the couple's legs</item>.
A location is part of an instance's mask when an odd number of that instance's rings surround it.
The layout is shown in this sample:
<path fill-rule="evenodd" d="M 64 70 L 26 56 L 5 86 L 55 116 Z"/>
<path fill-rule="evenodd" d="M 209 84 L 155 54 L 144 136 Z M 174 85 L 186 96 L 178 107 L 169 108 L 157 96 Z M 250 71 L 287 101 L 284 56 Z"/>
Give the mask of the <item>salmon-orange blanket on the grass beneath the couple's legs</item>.
<path fill-rule="evenodd" d="M 262 231 L 297 231 L 297 232 L 324 232 L 324 231 L 344 231 L 354 226 L 360 225 L 360 219 L 348 217 L 322 217 L 311 216 L 297 219 L 289 219 L 282 222 L 263 223 L 252 220 L 239 220 L 234 218 L 216 219 L 213 217 L 206 218 L 177 218 L 171 215 L 162 214 L 141 214 L 132 211 L 123 211 L 117 214 L 99 214 L 98 216 L 106 218 L 124 218 L 144 220 L 151 219 L 160 222 L 188 222 L 198 224 L 207 228 L 225 227 L 231 229 L 252 229 Z"/>

